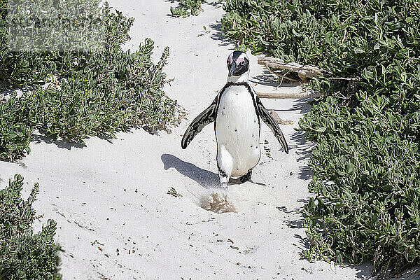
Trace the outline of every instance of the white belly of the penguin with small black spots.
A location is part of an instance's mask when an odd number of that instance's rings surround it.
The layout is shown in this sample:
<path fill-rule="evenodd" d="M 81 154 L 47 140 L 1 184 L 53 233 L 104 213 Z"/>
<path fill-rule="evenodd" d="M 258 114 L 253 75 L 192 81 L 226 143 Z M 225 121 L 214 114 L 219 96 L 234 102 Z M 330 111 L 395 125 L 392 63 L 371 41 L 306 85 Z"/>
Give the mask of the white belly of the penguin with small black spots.
<path fill-rule="evenodd" d="M 253 99 L 244 86 L 231 86 L 223 93 L 216 118 L 216 140 L 218 161 L 224 160 L 219 156 L 222 146 L 232 157 L 231 176 L 244 175 L 258 164 L 260 126 Z"/>

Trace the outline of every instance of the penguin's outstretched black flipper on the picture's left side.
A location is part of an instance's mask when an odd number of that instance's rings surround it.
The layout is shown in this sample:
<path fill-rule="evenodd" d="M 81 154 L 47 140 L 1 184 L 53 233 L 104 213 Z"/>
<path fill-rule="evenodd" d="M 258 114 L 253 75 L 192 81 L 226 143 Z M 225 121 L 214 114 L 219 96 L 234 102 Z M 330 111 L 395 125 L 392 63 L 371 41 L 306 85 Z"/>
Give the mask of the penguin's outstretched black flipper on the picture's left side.
<path fill-rule="evenodd" d="M 198 132 L 202 131 L 206 125 L 216 120 L 217 104 L 218 97 L 216 97 L 214 102 L 211 103 L 206 110 L 202 111 L 202 113 L 200 113 L 200 115 L 198 115 L 197 118 L 195 118 L 193 122 L 188 126 L 181 141 L 181 147 L 183 149 L 187 148 L 188 144 L 190 144 L 190 141 L 194 139 Z"/>

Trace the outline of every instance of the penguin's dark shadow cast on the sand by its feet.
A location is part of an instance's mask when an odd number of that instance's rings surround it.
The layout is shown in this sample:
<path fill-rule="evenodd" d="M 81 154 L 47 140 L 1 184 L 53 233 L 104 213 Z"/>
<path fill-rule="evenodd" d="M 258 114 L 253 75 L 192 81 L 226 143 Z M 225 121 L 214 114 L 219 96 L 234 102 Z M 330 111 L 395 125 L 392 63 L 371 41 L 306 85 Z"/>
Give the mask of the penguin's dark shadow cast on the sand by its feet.
<path fill-rule="evenodd" d="M 214 172 L 197 167 L 190 162 L 184 162 L 183 160 L 176 158 L 176 156 L 167 153 L 162 154 L 160 159 L 163 162 L 163 168 L 165 170 L 174 168 L 177 172 L 196 181 L 204 188 L 220 188 L 219 176 Z M 249 182 L 260 186 L 266 186 L 264 183 L 257 183 L 252 180 L 249 180 Z M 229 186 L 232 184 L 239 185 L 241 183 L 243 182 L 241 182 L 240 179 L 231 178 L 229 180 Z"/>

